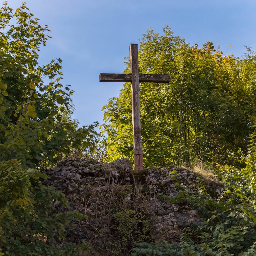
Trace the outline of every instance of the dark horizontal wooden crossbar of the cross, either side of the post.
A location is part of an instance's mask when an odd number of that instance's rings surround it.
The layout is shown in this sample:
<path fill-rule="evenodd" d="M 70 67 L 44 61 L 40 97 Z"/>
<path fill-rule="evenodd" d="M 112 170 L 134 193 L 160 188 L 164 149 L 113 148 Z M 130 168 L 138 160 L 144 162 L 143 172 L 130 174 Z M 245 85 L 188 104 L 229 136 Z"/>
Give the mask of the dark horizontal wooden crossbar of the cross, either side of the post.
<path fill-rule="evenodd" d="M 100 82 L 131 82 L 132 74 L 105 74 L 100 73 Z M 139 74 L 139 81 L 146 83 L 168 83 L 170 74 Z"/>

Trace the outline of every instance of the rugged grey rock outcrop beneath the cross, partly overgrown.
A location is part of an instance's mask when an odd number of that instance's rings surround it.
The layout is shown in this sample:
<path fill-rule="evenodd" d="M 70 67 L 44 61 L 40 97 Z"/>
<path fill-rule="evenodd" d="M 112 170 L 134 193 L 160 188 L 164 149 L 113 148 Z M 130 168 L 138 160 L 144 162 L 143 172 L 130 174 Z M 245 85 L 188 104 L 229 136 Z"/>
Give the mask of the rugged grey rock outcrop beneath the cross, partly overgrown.
<path fill-rule="evenodd" d="M 61 190 L 70 206 L 56 201 L 55 211 L 88 216 L 68 233 L 70 242 L 87 242 L 87 255 L 129 255 L 136 242 L 178 243 L 184 227 L 202 222 L 183 191 L 198 190 L 202 179 L 184 168 L 146 168 L 134 179 L 129 159 L 106 165 L 68 159 L 46 173 L 45 184 Z M 220 189 L 208 186 L 212 195 Z"/>

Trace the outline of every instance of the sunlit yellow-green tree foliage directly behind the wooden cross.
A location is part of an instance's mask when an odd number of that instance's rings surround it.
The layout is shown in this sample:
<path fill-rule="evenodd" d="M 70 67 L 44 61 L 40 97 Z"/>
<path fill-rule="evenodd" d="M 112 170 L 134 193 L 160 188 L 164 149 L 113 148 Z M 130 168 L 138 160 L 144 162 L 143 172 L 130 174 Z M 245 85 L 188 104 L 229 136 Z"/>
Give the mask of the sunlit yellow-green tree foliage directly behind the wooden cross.
<path fill-rule="evenodd" d="M 207 42 L 190 46 L 169 27 L 143 35 L 140 73 L 168 73 L 169 84 L 141 83 L 141 126 L 146 166 L 237 160 L 255 119 L 255 53 L 223 56 Z M 129 73 L 129 62 L 125 73 Z M 131 88 L 103 107 L 109 160 L 132 158 Z M 118 152 L 118 154 L 117 154 Z M 229 157 L 229 158 L 228 158 Z"/>

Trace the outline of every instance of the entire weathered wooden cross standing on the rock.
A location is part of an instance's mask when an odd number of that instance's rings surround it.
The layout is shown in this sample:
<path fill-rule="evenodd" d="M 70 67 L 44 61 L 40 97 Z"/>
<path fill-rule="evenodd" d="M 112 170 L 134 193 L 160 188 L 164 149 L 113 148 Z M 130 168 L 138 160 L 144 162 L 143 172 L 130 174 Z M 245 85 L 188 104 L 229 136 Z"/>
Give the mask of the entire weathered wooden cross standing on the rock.
<path fill-rule="evenodd" d="M 100 82 L 131 82 L 132 129 L 134 147 L 134 169 L 143 170 L 141 124 L 140 124 L 140 82 L 169 83 L 169 74 L 139 74 L 138 44 L 130 45 L 131 74 L 103 74 Z"/>

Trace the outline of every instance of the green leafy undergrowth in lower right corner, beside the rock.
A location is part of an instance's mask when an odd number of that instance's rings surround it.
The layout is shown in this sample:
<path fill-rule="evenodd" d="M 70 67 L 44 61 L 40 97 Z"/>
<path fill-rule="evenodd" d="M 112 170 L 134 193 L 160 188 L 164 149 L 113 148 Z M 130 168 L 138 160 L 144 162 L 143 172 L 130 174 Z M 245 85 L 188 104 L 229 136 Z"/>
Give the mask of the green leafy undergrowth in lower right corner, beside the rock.
<path fill-rule="evenodd" d="M 191 208 L 197 209 L 204 219 L 202 225 L 191 224 L 186 227 L 178 245 L 166 241 L 137 243 L 131 256 L 255 256 L 255 134 L 251 134 L 249 138 L 247 155 L 241 153 L 241 161 L 245 165 L 241 170 L 232 166 L 219 166 L 216 175 L 223 183 L 224 191 L 216 199 L 211 198 L 205 186 L 200 184 L 197 192 L 183 186 L 183 194 L 171 199 L 176 203 L 186 200 Z"/>

